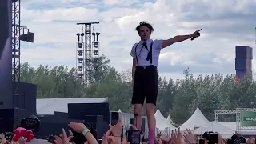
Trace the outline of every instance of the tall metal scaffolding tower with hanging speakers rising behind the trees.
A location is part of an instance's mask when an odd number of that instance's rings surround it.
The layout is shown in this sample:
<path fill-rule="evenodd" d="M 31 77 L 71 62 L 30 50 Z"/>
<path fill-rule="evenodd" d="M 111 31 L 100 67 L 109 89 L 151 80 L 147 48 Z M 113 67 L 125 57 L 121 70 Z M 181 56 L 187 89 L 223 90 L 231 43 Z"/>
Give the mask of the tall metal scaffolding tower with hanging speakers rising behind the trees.
<path fill-rule="evenodd" d="M 99 56 L 98 24 L 99 22 L 77 23 L 76 67 L 78 78 L 82 79 L 86 85 L 90 83 L 90 73 L 93 68 L 91 66 L 92 58 Z M 97 31 L 94 31 L 94 26 L 97 26 Z"/>

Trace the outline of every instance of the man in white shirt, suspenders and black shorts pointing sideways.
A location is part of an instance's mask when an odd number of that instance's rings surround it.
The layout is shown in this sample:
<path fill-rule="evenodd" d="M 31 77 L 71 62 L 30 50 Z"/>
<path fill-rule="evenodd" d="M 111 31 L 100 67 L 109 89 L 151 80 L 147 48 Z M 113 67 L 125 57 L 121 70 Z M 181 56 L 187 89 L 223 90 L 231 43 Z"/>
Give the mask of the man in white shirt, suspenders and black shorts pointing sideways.
<path fill-rule="evenodd" d="M 133 57 L 132 82 L 134 105 L 134 126 L 141 130 L 142 126 L 142 107 L 146 98 L 146 115 L 149 127 L 149 142 L 154 144 L 155 118 L 154 106 L 158 98 L 158 59 L 160 51 L 175 42 L 182 42 L 186 39 L 199 37 L 200 30 L 194 34 L 178 35 L 167 40 L 152 40 L 151 33 L 154 31 L 150 23 L 140 22 L 136 27 L 141 41 L 135 43 L 130 55 Z M 164 30 L 162 31 L 164 32 Z"/>

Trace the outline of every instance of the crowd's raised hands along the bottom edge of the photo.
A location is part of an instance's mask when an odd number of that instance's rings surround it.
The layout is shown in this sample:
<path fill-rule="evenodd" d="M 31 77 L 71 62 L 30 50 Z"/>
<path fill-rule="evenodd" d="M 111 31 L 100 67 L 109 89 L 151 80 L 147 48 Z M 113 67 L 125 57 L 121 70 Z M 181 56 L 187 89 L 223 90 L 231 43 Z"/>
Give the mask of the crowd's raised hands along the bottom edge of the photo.
<path fill-rule="evenodd" d="M 126 138 L 126 134 L 122 135 L 122 119 L 119 118 L 118 123 L 114 126 L 110 126 L 110 129 L 106 131 L 102 136 L 102 141 L 99 142 L 94 138 L 93 134 L 90 133 L 90 130 L 83 123 L 70 122 L 68 124 L 70 129 L 74 130 L 76 133 L 83 134 L 86 138 L 86 144 L 130 144 Z M 134 127 L 136 130 L 136 127 Z M 141 143 L 144 134 L 141 134 Z M 72 141 L 73 133 L 71 130 L 69 134 L 66 134 L 66 131 L 62 129 L 62 134 L 54 136 L 54 144 L 70 144 L 76 143 Z M 179 128 L 173 130 L 170 137 L 163 136 L 162 134 L 157 134 L 155 138 L 155 144 L 201 144 L 199 142 L 198 136 L 194 135 L 191 130 L 181 131 Z M 202 139 L 202 138 L 201 138 Z M 231 138 L 231 143 L 228 142 L 228 139 L 223 139 L 220 134 L 218 134 L 218 142 L 216 144 L 255 144 L 255 138 L 250 137 L 247 141 L 246 138 L 243 138 L 240 134 L 234 134 Z M 208 144 L 208 140 L 205 138 L 203 144 Z M 26 139 L 20 138 L 17 142 L 6 140 L 4 134 L 1 136 L 1 144 L 25 144 Z"/>

